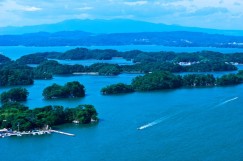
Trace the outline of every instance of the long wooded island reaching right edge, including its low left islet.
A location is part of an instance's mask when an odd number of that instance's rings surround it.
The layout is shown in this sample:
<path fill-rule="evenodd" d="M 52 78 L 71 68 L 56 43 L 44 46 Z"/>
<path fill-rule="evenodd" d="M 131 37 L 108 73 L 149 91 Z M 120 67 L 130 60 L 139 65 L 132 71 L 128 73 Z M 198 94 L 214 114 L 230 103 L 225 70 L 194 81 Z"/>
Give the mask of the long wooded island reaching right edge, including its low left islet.
<path fill-rule="evenodd" d="M 104 95 L 131 93 L 134 91 L 153 91 L 164 89 L 176 89 L 181 87 L 214 87 L 236 85 L 243 82 L 243 71 L 237 74 L 226 74 L 215 78 L 211 74 L 175 75 L 170 72 L 154 72 L 137 76 L 131 85 L 122 83 L 109 85 L 101 89 Z"/>

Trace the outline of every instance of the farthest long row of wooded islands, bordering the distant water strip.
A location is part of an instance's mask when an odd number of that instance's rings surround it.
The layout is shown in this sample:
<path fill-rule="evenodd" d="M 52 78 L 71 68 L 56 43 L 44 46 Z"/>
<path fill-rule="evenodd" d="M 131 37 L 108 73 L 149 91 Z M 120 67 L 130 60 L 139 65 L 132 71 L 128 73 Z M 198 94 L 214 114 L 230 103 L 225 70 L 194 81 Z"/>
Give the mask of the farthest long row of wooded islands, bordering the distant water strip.
<path fill-rule="evenodd" d="M 223 54 L 213 51 L 201 51 L 193 53 L 175 53 L 175 52 L 144 52 L 140 50 L 131 50 L 120 52 L 111 49 L 87 49 L 87 48 L 75 48 L 65 52 L 43 52 L 33 53 L 22 56 L 17 60 L 24 64 L 39 64 L 47 59 L 58 60 L 111 60 L 113 57 L 123 57 L 126 60 L 132 60 L 134 63 L 147 63 L 147 62 L 234 62 L 243 64 L 242 53 Z M 35 62 L 35 63 L 34 63 Z"/>

